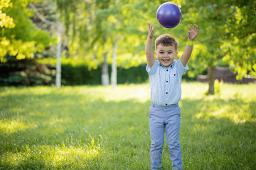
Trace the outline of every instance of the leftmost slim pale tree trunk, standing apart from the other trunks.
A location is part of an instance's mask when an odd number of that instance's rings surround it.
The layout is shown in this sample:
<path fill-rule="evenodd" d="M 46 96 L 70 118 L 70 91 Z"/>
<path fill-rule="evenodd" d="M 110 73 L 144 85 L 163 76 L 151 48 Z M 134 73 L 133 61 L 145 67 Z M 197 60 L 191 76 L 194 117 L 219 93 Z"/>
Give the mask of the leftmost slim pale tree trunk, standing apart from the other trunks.
<path fill-rule="evenodd" d="M 56 79 L 55 86 L 57 89 L 60 89 L 61 86 L 61 35 L 63 31 L 63 23 L 58 23 L 57 25 L 57 36 L 58 36 L 58 44 L 57 44 L 57 64 L 56 64 Z"/>

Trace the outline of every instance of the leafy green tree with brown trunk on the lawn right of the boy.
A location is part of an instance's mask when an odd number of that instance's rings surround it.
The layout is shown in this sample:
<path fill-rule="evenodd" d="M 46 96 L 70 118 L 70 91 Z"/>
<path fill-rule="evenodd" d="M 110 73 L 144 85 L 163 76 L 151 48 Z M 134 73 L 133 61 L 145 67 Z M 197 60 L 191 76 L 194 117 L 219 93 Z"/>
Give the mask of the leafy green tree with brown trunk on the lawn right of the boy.
<path fill-rule="evenodd" d="M 197 70 L 208 67 L 208 94 L 214 94 L 214 70 L 218 60 L 229 62 L 238 73 L 237 78 L 244 77 L 247 70 L 255 75 L 253 67 L 256 65 L 252 64 L 255 63 L 256 27 L 252 22 L 255 20 L 255 3 L 196 0 L 193 3 L 186 1 L 182 6 L 185 23 L 194 22 L 200 27 L 198 45 L 193 52 L 195 57 L 191 58 L 190 64 Z"/>

